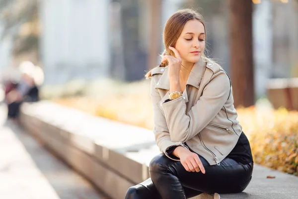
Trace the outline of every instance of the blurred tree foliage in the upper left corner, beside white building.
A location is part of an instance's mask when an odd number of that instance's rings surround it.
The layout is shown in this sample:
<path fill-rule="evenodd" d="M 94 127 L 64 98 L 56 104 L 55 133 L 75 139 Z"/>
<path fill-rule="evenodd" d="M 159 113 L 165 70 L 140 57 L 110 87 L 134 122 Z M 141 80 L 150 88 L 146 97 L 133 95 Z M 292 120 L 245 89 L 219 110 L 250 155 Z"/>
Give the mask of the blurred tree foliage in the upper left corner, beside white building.
<path fill-rule="evenodd" d="M 12 36 L 13 55 L 38 52 L 38 0 L 0 0 L 0 40 Z"/>

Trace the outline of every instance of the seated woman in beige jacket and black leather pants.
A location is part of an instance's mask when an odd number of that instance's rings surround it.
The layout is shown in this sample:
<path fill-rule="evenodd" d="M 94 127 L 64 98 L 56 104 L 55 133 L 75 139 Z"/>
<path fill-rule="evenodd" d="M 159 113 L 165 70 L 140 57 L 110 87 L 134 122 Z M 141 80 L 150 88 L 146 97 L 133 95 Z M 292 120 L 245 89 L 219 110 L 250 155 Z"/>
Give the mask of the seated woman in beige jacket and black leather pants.
<path fill-rule="evenodd" d="M 162 154 L 150 177 L 125 199 L 185 199 L 201 193 L 238 193 L 249 184 L 253 159 L 237 121 L 229 77 L 204 55 L 202 15 L 175 12 L 163 32 L 165 51 L 151 78 L 154 135 Z"/>

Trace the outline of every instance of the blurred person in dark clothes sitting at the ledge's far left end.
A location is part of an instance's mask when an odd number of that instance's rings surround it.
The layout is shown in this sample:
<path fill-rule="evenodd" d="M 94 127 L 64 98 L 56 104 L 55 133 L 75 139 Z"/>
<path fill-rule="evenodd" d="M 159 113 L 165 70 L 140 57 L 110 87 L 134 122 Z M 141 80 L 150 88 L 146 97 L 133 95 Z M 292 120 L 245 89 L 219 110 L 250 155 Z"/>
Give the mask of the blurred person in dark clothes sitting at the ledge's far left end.
<path fill-rule="evenodd" d="M 8 81 L 5 86 L 5 102 L 8 106 L 8 118 L 16 118 L 22 102 L 39 100 L 37 84 L 38 68 L 31 62 L 23 62 L 19 66 L 20 80 L 17 83 Z"/>

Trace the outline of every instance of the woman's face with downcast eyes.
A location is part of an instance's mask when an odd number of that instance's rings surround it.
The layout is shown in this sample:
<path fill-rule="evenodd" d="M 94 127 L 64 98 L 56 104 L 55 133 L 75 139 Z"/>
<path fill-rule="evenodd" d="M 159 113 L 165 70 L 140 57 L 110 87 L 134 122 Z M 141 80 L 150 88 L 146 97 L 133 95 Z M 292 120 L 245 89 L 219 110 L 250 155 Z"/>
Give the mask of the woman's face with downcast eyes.
<path fill-rule="evenodd" d="M 182 61 L 195 63 L 201 58 L 205 49 L 205 27 L 199 20 L 189 20 L 176 42 Z"/>

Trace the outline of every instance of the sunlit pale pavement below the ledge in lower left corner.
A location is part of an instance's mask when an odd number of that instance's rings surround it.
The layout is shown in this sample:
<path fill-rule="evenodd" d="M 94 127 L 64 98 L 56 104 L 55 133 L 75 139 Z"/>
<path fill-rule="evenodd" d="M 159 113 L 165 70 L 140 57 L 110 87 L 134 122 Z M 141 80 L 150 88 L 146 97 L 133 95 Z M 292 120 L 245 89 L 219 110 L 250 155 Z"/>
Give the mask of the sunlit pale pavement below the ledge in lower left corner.
<path fill-rule="evenodd" d="M 108 199 L 5 115 L 0 103 L 0 199 Z"/>

